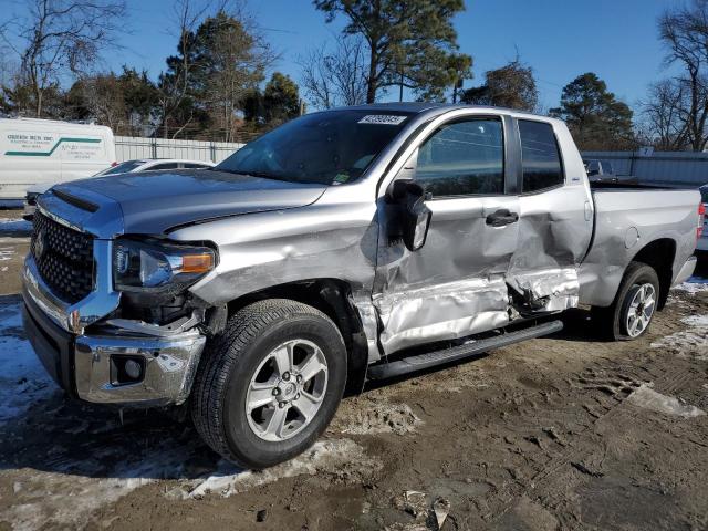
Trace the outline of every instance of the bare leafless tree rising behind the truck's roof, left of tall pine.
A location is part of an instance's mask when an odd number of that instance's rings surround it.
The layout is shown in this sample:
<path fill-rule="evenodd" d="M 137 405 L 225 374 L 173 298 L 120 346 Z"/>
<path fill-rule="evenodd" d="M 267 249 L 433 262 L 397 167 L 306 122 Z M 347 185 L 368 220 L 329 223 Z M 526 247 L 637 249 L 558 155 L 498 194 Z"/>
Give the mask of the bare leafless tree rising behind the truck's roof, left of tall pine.
<path fill-rule="evenodd" d="M 304 92 L 314 107 L 366 102 L 368 65 L 361 38 L 340 39 L 332 50 L 326 46 L 310 50 L 298 63 L 302 69 Z"/>

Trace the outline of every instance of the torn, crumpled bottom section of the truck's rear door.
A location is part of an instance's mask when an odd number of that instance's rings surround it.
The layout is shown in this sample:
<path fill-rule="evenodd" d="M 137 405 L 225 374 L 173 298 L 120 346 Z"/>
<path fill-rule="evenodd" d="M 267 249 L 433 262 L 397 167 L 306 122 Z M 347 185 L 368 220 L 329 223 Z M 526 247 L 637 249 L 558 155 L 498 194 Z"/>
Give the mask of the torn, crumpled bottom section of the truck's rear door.
<path fill-rule="evenodd" d="M 577 306 L 580 281 L 575 267 L 517 272 L 508 282 L 532 312 L 560 312 Z"/>

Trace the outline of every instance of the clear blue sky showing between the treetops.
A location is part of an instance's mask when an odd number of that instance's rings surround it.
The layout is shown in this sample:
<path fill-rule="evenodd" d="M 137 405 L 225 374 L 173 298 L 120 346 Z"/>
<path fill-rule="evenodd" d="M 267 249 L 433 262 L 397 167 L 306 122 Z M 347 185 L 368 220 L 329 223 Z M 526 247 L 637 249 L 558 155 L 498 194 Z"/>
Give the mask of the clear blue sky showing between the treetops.
<path fill-rule="evenodd" d="M 0 0 L 0 3 L 15 3 Z M 129 33 L 125 46 L 106 58 L 106 66 L 123 63 L 157 76 L 175 52 L 168 27 L 170 0 L 127 0 Z M 543 106 L 558 105 L 562 86 L 583 72 L 595 72 L 617 97 L 634 106 L 646 86 L 666 75 L 656 19 L 680 0 L 467 0 L 455 27 L 460 50 L 475 58 L 481 83 L 487 70 L 516 54 L 535 71 Z M 299 55 L 333 38 L 341 24 L 326 24 L 310 0 L 249 0 L 249 11 L 273 48 L 282 54 L 275 69 L 295 80 Z M 397 94 L 392 93 L 391 97 Z"/>

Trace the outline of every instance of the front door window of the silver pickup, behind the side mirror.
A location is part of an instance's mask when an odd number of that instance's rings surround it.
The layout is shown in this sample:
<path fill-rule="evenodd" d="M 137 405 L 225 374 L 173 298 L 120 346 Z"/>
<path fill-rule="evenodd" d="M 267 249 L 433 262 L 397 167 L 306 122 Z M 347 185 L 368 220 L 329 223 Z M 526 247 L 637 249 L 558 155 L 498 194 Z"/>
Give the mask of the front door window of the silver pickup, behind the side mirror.
<path fill-rule="evenodd" d="M 433 197 L 503 194 L 501 121 L 444 125 L 418 152 L 416 180 Z"/>

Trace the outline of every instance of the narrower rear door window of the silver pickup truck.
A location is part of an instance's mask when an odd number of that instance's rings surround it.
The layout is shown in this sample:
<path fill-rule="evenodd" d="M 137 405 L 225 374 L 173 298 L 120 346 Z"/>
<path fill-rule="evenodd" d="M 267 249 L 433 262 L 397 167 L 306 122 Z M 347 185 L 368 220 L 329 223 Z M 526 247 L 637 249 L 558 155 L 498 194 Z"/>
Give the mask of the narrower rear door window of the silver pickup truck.
<path fill-rule="evenodd" d="M 519 121 L 523 190 L 538 191 L 563 184 L 561 156 L 551 124 Z"/>

